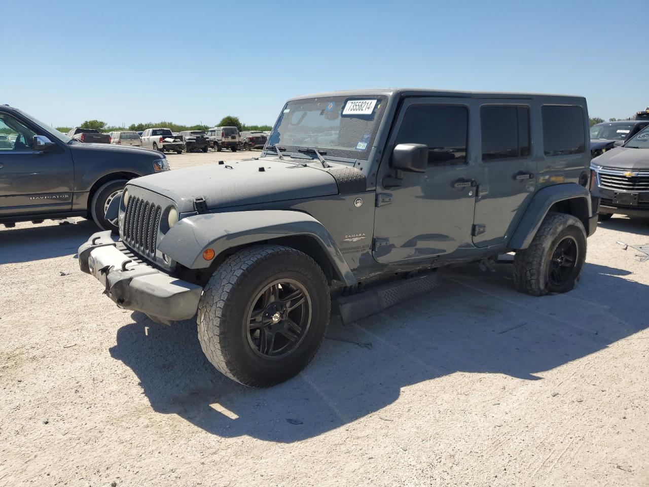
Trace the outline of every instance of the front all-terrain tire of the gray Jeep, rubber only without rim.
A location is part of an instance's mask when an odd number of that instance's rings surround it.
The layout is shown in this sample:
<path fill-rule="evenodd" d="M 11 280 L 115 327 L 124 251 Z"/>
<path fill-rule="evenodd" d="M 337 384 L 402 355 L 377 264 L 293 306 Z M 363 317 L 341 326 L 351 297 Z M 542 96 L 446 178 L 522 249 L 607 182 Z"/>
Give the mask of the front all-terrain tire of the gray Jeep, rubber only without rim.
<path fill-rule="evenodd" d="M 278 279 L 292 279 L 306 290 L 310 321 L 288 356 L 268 358 L 250 343 L 248 313 L 257 293 Z M 251 387 L 273 386 L 311 362 L 324 339 L 329 312 L 326 277 L 310 256 L 282 245 L 255 245 L 229 256 L 205 287 L 197 314 L 199 342 L 210 363 L 230 379 Z"/>

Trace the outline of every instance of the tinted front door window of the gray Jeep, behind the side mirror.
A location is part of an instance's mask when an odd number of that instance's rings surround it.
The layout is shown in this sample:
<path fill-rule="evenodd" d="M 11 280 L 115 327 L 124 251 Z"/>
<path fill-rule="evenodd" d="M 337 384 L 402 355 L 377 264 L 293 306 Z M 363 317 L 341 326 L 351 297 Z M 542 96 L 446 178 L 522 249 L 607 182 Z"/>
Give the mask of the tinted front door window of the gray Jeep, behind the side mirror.
<path fill-rule="evenodd" d="M 428 145 L 428 164 L 466 164 L 469 110 L 461 105 L 413 105 L 408 108 L 397 144 Z"/>

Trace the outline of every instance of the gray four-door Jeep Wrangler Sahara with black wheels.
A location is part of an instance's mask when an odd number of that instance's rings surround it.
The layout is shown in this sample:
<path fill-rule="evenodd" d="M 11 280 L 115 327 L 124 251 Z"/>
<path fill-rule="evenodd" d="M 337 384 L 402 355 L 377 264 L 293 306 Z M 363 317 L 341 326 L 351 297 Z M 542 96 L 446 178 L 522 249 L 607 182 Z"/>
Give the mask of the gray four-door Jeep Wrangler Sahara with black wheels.
<path fill-rule="evenodd" d="M 597 224 L 585 99 L 361 90 L 284 105 L 260 157 L 129 181 L 79 264 L 122 308 L 197 314 L 247 386 L 312 360 L 344 322 L 430 292 L 436 269 L 515 252 L 515 286 L 571 290 Z"/>

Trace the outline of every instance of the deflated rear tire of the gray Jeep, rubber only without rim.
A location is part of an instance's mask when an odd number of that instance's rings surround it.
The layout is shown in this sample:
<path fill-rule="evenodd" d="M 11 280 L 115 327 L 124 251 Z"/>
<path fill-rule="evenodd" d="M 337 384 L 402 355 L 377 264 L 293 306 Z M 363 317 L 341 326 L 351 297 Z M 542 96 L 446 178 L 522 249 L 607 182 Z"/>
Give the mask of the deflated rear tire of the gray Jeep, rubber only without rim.
<path fill-rule="evenodd" d="M 572 240 L 576 247 L 574 268 L 569 269 L 560 284 L 550 280 L 552 258 L 559 243 Z M 516 289 L 533 296 L 564 293 L 572 290 L 582 275 L 586 259 L 586 231 L 580 219 L 564 214 L 547 214 L 530 247 L 517 251 L 514 257 L 513 279 Z"/>

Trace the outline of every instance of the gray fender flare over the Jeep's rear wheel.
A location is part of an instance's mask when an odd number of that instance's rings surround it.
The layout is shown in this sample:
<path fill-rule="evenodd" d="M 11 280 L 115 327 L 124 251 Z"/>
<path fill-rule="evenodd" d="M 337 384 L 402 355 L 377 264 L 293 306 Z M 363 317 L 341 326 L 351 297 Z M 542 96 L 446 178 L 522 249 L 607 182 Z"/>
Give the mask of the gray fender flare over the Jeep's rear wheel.
<path fill-rule="evenodd" d="M 593 208 L 588 188 L 574 182 L 554 184 L 541 188 L 533 195 L 530 205 L 509 239 L 508 248 L 515 250 L 528 248 L 552 205 L 568 200 L 574 200 L 578 202 L 580 208 L 584 208 L 580 211 L 583 214 L 574 216 L 582 220 L 586 232 L 590 235 L 592 232 L 589 231 L 589 219 L 593 214 Z"/>

